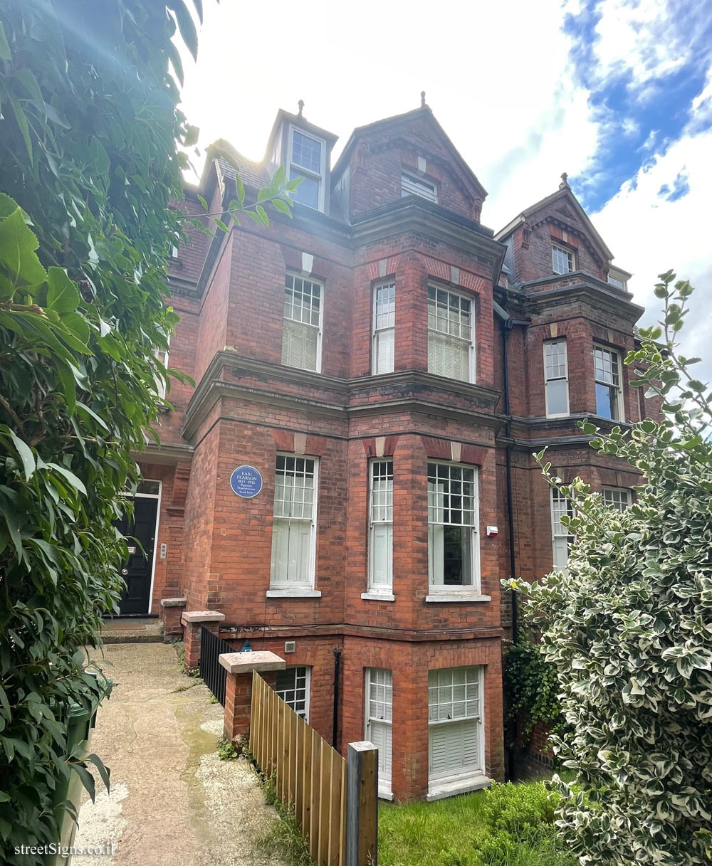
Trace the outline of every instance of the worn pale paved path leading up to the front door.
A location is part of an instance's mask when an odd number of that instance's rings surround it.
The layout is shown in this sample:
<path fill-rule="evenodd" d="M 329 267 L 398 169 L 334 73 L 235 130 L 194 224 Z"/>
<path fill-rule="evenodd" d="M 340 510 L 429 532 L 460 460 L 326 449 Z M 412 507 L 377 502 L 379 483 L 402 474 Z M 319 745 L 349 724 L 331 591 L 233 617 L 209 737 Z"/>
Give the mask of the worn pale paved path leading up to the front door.
<path fill-rule="evenodd" d="M 81 805 L 75 845 L 113 843 L 112 856 L 73 866 L 279 866 L 253 848 L 276 813 L 244 759 L 221 761 L 223 708 L 178 668 L 164 643 L 107 645 L 111 698 L 92 750 L 111 767 L 111 793 Z"/>

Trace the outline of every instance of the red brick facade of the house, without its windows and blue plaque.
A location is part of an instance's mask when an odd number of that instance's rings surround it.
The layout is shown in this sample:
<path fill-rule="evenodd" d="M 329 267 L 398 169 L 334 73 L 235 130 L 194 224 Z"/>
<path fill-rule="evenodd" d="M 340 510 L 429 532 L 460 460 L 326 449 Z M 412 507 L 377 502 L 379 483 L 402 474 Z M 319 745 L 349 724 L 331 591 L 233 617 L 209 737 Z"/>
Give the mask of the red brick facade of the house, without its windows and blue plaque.
<path fill-rule="evenodd" d="M 284 140 L 302 122 L 286 113 L 278 121 Z M 329 141 L 325 133 L 325 148 Z M 248 185 L 269 171 L 267 161 L 241 166 Z M 404 171 L 436 189 L 437 203 L 401 197 Z M 234 197 L 234 175 L 223 159 L 209 161 L 201 195 L 210 210 Z M 297 204 L 293 219 L 275 213 L 269 228 L 245 219 L 215 238 L 191 232 L 171 262 L 182 319 L 170 365 L 196 387 L 173 386 L 162 446 L 142 461 L 145 477 L 162 481 L 156 541 L 165 557 L 156 559 L 152 611 L 184 595 L 188 611 L 224 614 L 220 636 L 236 648 L 249 639 L 307 666 L 309 722 L 331 740 L 335 717 L 342 751 L 365 736 L 366 669 L 391 671 L 394 798 L 466 790 L 467 773 L 454 773 L 450 788 L 442 774 L 429 783 L 429 672 L 481 671 L 483 754 L 470 781 L 502 779 L 510 599 L 500 581 L 513 569 L 530 579 L 552 567 L 549 492 L 531 453 L 548 444 L 562 477 L 583 475 L 594 488 L 636 483 L 630 469 L 588 448 L 576 422 L 596 410 L 593 341 L 622 358 L 641 310 L 604 282 L 611 254 L 566 186 L 499 236 L 482 227 L 486 193 L 427 107 L 356 130 L 321 183 L 331 187 L 327 213 Z M 192 192 L 181 207 L 200 210 Z M 573 250 L 573 273 L 552 275 L 552 239 Z M 287 274 L 323 288 L 320 372 L 282 365 Z M 395 284 L 394 363 L 376 376 L 372 297 L 382 281 Z M 429 286 L 469 301 L 472 381 L 428 372 Z M 553 419 L 542 342 L 556 336 L 566 338 L 570 415 Z M 637 420 L 627 372 L 622 394 L 625 420 Z M 270 591 L 278 454 L 318 458 L 311 594 Z M 392 590 L 363 598 L 369 461 L 383 456 L 393 464 Z M 429 461 L 476 469 L 476 598 L 443 601 L 429 586 Z M 242 465 L 262 475 L 251 499 L 230 488 Z M 295 644 L 288 655 L 286 642 Z"/>

